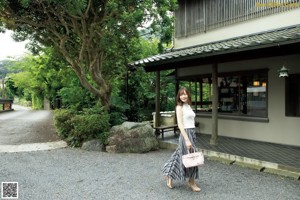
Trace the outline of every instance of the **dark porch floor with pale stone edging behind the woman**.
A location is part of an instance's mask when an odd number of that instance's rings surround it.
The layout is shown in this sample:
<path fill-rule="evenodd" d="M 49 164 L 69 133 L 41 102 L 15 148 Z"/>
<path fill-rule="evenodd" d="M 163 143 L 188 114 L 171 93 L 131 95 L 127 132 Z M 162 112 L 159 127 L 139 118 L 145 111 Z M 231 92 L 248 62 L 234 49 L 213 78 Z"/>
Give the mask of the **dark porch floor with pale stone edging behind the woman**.
<path fill-rule="evenodd" d="M 178 143 L 173 132 L 160 140 L 166 148 Z M 300 147 L 251 140 L 218 137 L 218 145 L 210 145 L 210 135 L 198 134 L 197 146 L 207 157 L 228 164 L 239 164 L 259 171 L 276 173 L 300 180 Z"/>

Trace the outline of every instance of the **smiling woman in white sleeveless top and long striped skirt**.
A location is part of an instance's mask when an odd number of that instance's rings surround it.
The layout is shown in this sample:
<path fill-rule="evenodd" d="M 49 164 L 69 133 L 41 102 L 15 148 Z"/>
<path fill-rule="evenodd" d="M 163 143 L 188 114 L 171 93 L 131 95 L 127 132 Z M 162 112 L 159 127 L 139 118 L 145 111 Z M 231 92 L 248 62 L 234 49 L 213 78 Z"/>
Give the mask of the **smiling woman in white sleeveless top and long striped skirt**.
<path fill-rule="evenodd" d="M 179 89 L 176 96 L 176 117 L 180 130 L 179 145 L 162 171 L 167 177 L 168 188 L 173 188 L 172 180 L 185 181 L 188 178 L 188 186 L 194 192 L 200 192 L 201 189 L 195 183 L 195 179 L 199 178 L 198 167 L 185 168 L 181 158 L 188 153 L 188 149 L 196 149 L 195 113 L 190 105 L 190 92 L 186 88 Z"/>

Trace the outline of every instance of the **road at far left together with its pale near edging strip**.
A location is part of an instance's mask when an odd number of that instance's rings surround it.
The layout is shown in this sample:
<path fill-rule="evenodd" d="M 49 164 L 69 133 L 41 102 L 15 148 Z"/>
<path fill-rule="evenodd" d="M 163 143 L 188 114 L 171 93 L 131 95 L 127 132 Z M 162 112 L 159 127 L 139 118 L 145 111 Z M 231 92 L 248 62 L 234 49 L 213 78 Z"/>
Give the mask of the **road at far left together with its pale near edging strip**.
<path fill-rule="evenodd" d="M 35 151 L 66 147 L 57 136 L 53 113 L 13 104 L 0 113 L 0 152 Z"/>

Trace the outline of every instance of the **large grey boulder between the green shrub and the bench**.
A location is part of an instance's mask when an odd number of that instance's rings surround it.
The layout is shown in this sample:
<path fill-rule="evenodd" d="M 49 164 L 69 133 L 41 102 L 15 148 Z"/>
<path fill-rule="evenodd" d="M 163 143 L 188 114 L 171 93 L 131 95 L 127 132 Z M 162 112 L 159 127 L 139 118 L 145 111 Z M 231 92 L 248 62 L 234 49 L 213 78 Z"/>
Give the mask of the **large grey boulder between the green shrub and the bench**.
<path fill-rule="evenodd" d="M 145 153 L 158 148 L 159 143 L 150 123 L 124 122 L 111 128 L 106 151 Z"/>

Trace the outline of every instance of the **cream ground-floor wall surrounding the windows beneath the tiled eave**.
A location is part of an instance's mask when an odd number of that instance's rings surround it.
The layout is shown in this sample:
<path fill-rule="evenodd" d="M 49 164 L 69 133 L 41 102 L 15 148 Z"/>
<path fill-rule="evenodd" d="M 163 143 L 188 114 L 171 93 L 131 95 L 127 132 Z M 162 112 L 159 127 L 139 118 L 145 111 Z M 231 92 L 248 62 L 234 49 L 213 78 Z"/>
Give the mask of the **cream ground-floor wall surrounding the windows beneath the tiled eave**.
<path fill-rule="evenodd" d="M 285 116 L 285 80 L 278 77 L 278 70 L 285 64 L 290 73 L 300 73 L 300 55 L 273 57 L 268 59 L 247 60 L 224 63 L 218 66 L 221 71 L 249 70 L 268 68 L 268 117 L 269 122 L 250 122 L 219 119 L 219 135 L 266 141 L 278 144 L 300 146 L 300 118 Z M 209 73 L 211 66 L 184 68 L 179 76 Z M 211 134 L 211 119 L 197 117 L 200 132 Z"/>

